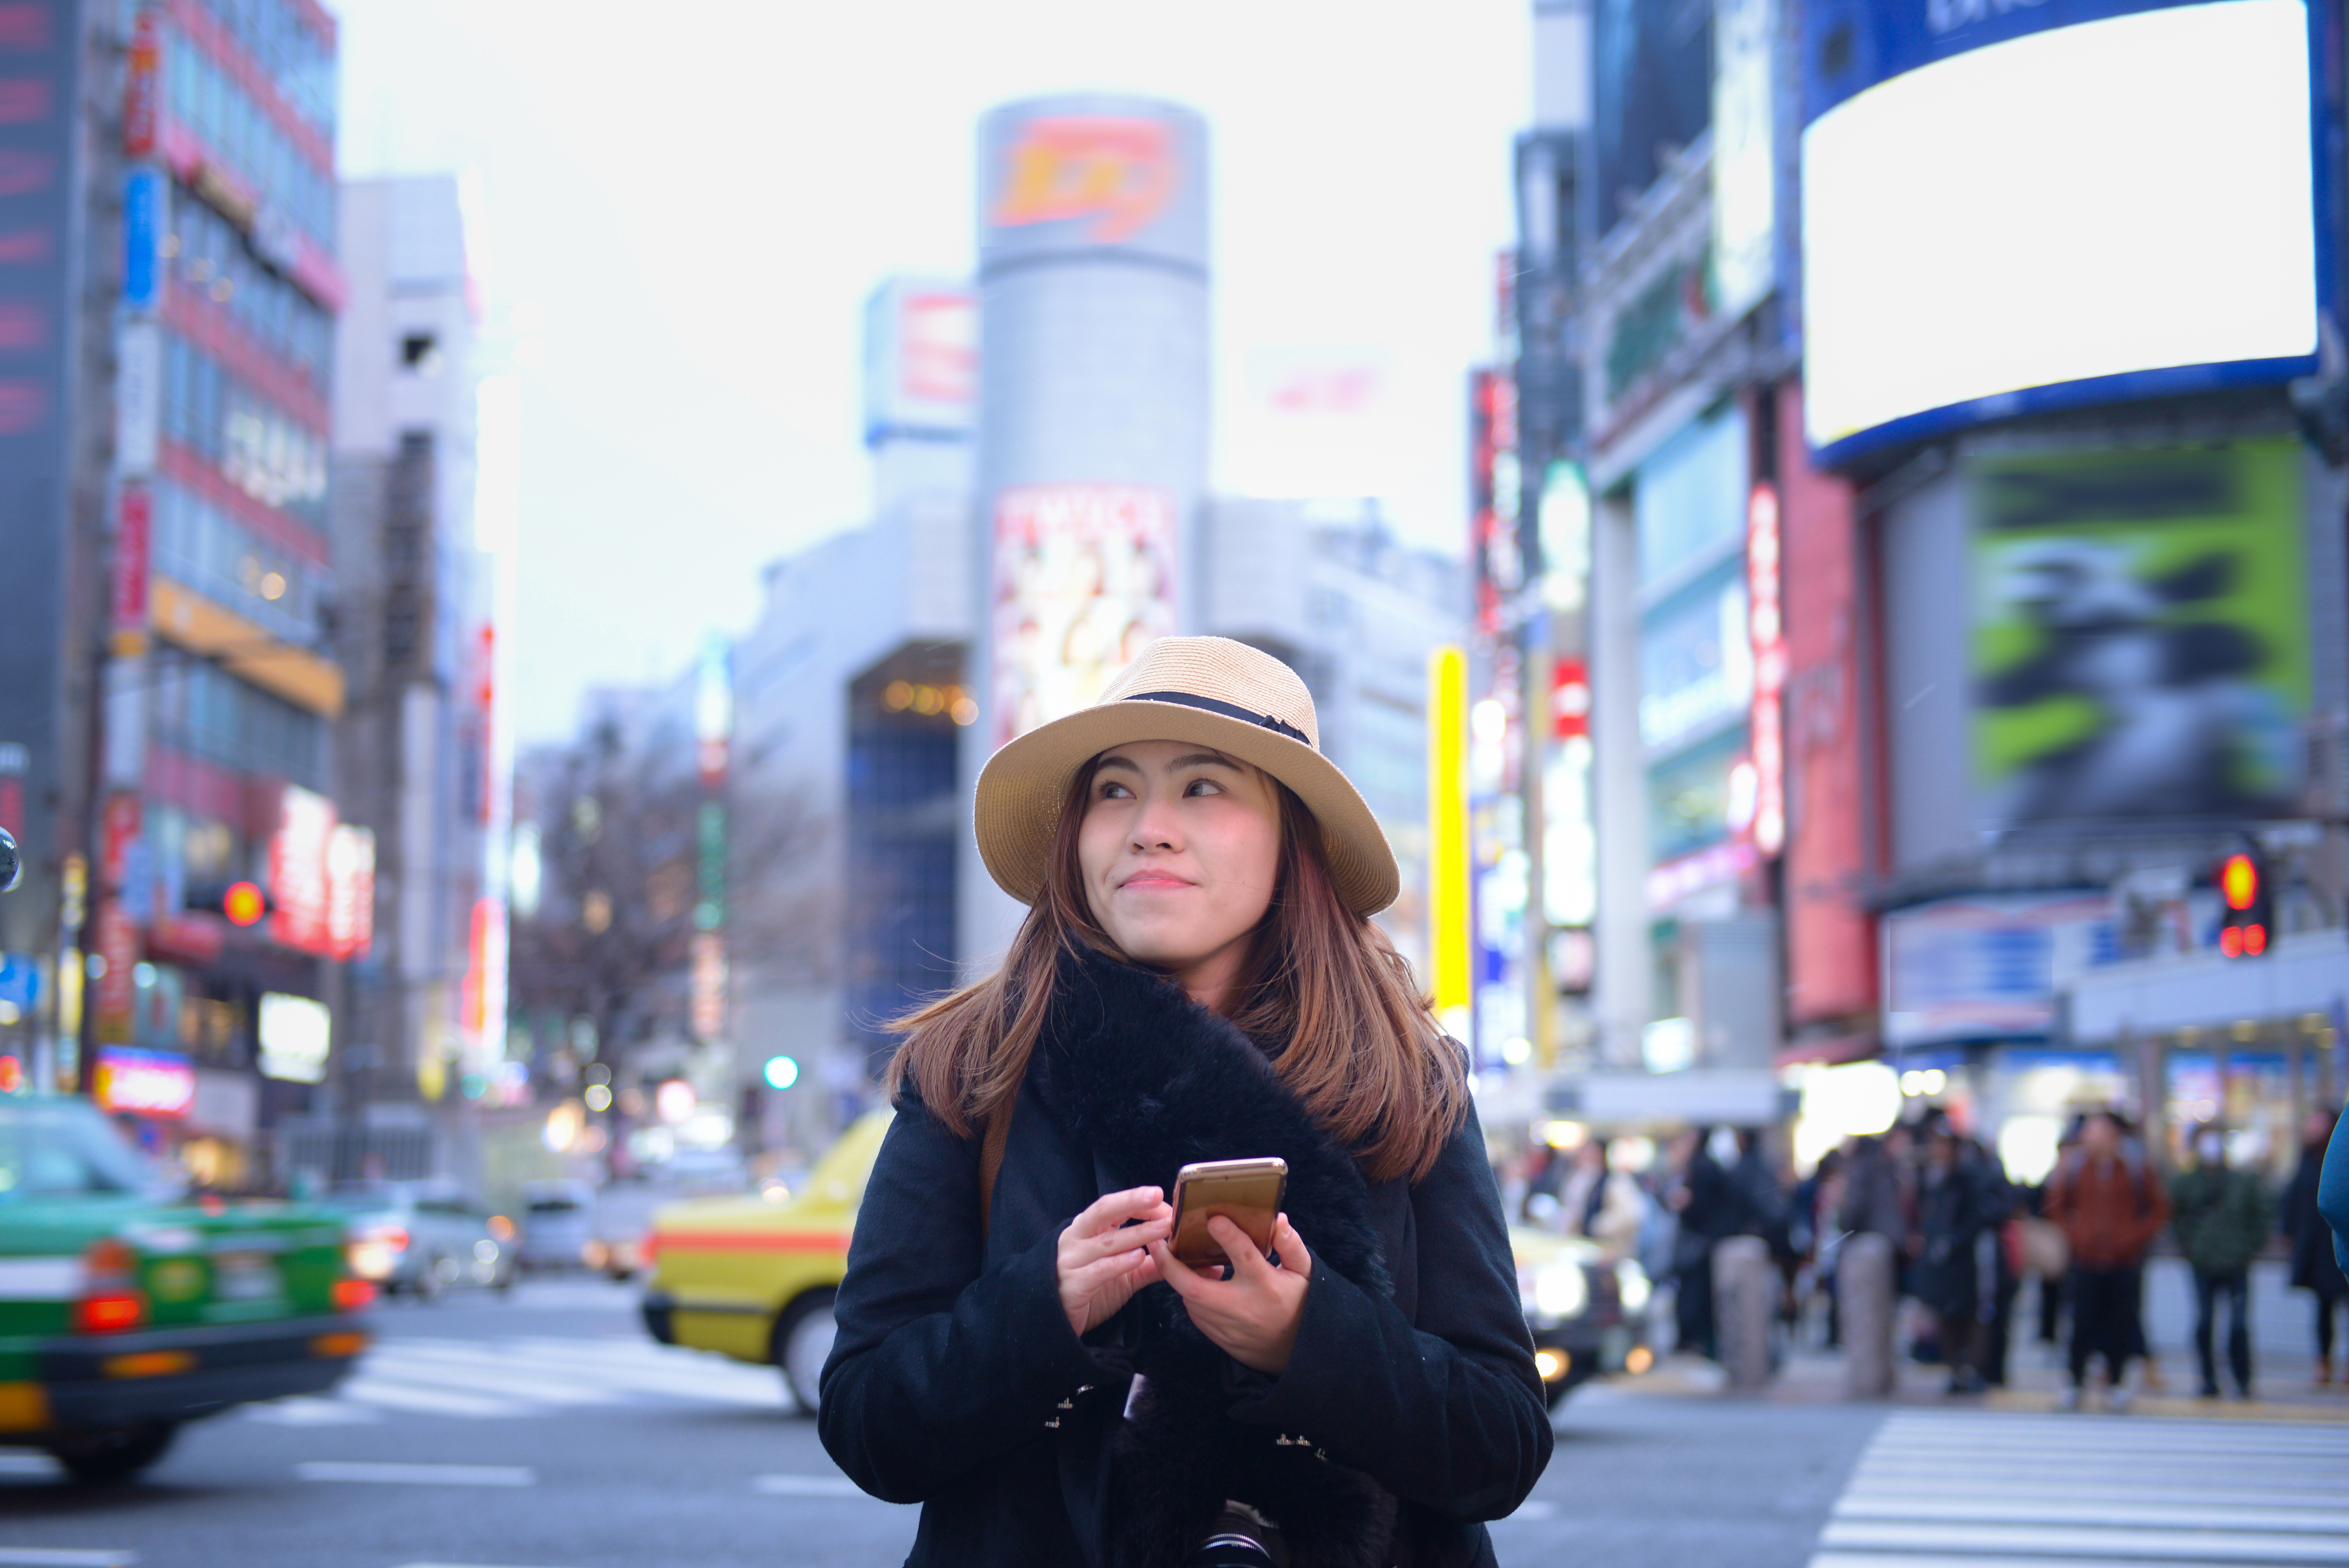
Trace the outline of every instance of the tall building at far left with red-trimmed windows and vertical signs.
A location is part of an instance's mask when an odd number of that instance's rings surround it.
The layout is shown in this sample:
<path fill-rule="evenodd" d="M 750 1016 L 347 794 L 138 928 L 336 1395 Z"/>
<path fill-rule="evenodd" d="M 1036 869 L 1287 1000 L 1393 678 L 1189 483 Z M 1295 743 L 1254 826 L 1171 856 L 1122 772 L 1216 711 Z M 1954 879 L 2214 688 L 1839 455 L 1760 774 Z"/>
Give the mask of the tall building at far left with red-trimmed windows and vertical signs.
<path fill-rule="evenodd" d="M 31 869 L 0 937 L 45 981 L 0 1052 L 247 1181 L 364 944 L 324 638 L 336 26 L 56 0 L 0 52 L 35 89 L 0 129 L 0 824 Z"/>

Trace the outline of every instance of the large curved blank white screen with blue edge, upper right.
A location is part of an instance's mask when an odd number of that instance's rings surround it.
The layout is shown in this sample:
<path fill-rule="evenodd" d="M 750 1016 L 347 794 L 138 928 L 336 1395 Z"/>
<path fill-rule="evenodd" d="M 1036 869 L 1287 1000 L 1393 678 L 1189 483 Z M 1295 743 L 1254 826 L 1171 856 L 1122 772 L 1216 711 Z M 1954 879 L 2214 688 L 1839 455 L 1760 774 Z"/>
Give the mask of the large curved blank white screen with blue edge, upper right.
<path fill-rule="evenodd" d="M 1804 413 L 1830 462 L 2037 406 L 2314 371 L 2302 0 L 1933 59 L 1820 113 L 1802 188 Z"/>

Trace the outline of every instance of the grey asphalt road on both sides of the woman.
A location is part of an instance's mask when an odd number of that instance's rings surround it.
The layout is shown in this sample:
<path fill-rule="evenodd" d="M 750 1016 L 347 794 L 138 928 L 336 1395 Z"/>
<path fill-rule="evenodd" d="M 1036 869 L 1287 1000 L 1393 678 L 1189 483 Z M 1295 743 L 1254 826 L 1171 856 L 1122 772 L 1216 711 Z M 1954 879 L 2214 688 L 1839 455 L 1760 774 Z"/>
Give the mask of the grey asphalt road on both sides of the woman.
<path fill-rule="evenodd" d="M 388 1303 L 376 1331 L 334 1399 L 188 1427 L 129 1486 L 0 1451 L 0 1563 L 881 1568 L 914 1540 L 914 1509 L 857 1493 L 770 1371 L 651 1345 L 622 1286 Z M 1741 1563 L 1802 1568 L 1877 1420 L 1579 1397 L 1539 1493 L 1494 1526 L 1501 1561 L 1736 1542 Z"/>

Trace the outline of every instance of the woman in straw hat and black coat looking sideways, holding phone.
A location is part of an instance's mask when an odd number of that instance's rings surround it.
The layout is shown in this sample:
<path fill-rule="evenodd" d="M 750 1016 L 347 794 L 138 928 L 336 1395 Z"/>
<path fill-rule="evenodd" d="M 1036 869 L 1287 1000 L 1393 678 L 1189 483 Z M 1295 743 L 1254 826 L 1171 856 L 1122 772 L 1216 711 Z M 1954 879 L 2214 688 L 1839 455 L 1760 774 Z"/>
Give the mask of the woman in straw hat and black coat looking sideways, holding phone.
<path fill-rule="evenodd" d="M 1165 638 L 980 775 L 1031 908 L 907 1021 L 822 1378 L 909 1563 L 1492 1563 L 1548 1462 L 1461 1054 L 1313 735 L 1278 660 Z M 1259 1155 L 1273 1258 L 1214 1218 L 1231 1275 L 1179 1263 L 1177 1167 Z"/>

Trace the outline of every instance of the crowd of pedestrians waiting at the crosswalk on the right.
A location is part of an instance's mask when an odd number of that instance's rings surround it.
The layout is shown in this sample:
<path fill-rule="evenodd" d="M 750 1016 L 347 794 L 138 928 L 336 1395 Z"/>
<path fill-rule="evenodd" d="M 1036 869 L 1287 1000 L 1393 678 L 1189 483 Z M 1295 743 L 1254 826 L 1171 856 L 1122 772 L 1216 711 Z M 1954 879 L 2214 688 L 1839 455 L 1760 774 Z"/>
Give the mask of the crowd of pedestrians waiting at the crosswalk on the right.
<path fill-rule="evenodd" d="M 2037 1338 L 2065 1350 L 2062 1408 L 2102 1387 L 2107 1406 L 2126 1411 L 2140 1383 L 2159 1387 L 2145 1261 L 2163 1237 L 2194 1279 L 2201 1397 L 2253 1397 L 2253 1263 L 2279 1230 L 2290 1286 L 2316 1303 L 2316 1383 L 2349 1385 L 2349 1331 L 2337 1331 L 2349 1279 L 2318 1211 L 2335 1122 L 2328 1113 L 2307 1120 L 2281 1192 L 2229 1157 L 2220 1127 L 2196 1129 L 2185 1169 L 2166 1174 L 2112 1108 L 2072 1122 L 2037 1185 L 2011 1181 L 1983 1141 L 1931 1108 L 1828 1153 L 1802 1181 L 1773 1164 L 1752 1129 L 1691 1127 L 1649 1169 L 1633 1169 L 1628 1141 L 1539 1150 L 1510 1188 L 1527 1223 L 1635 1256 L 1670 1284 L 1687 1352 L 1719 1359 L 1712 1258 L 1722 1242 L 1764 1239 L 1785 1284 L 1785 1333 L 1823 1329 L 1832 1347 L 1846 1312 L 1839 1256 L 1853 1237 L 1877 1235 L 1891 1246 L 1898 1296 L 1914 1303 L 1905 1347 L 1947 1366 L 1952 1394 L 2006 1385 L 2018 1300 L 2037 1279 Z"/>

